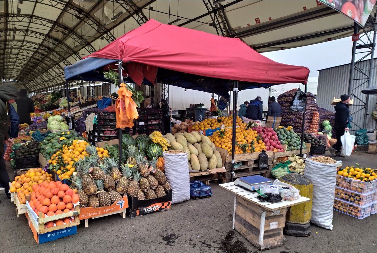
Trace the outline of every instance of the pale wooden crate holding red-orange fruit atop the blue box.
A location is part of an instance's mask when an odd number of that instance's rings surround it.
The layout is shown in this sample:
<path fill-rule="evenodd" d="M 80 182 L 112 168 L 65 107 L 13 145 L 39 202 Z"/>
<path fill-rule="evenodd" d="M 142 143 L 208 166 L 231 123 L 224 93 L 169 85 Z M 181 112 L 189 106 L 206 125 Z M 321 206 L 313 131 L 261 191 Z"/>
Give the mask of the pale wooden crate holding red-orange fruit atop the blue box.
<path fill-rule="evenodd" d="M 80 214 L 79 205 L 75 206 L 74 211 L 54 215 L 54 216 L 51 216 L 51 217 L 42 218 L 42 213 L 40 212 L 37 221 L 35 221 L 35 219 L 32 217 L 31 212 L 34 212 L 34 211 L 31 210 L 30 208 L 28 208 L 27 213 L 28 213 L 28 216 L 30 217 L 29 220 L 31 221 L 32 226 L 34 227 L 35 231 L 38 234 L 43 234 L 43 233 L 52 232 L 52 231 L 55 231 L 55 230 L 66 229 L 67 227 L 73 227 L 73 226 L 80 225 L 80 220 L 78 218 L 78 215 Z M 70 216 L 74 216 L 74 221 L 72 221 L 71 223 L 67 223 L 67 224 L 63 224 L 63 225 L 59 225 L 59 226 L 54 226 L 54 227 L 49 227 L 49 228 L 45 227 L 46 223 L 49 222 L 49 221 L 55 221 L 57 219 L 64 219 L 64 218 L 67 218 L 67 217 L 70 217 Z"/>

